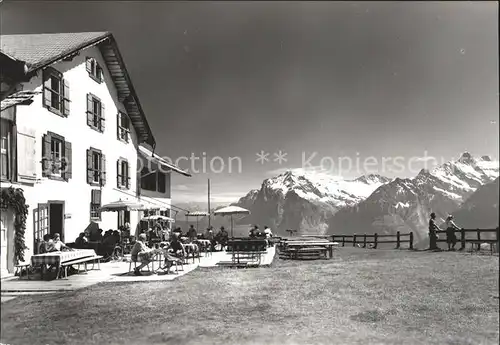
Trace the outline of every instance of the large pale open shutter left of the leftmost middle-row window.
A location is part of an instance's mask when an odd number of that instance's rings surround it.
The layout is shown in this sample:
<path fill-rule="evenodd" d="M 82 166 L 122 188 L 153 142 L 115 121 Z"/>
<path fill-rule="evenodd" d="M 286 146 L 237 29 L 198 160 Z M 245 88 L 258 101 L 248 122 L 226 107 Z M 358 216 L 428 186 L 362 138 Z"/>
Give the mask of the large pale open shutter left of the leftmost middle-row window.
<path fill-rule="evenodd" d="M 36 178 L 36 132 L 34 129 L 17 131 L 17 175 L 18 180 Z"/>

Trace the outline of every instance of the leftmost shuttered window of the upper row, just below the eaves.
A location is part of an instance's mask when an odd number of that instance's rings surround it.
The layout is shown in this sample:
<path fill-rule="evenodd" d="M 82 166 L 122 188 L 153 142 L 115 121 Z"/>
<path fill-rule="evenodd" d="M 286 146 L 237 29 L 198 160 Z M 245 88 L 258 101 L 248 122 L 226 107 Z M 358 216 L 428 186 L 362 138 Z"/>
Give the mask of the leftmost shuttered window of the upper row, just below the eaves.
<path fill-rule="evenodd" d="M 54 114 L 69 115 L 69 82 L 52 67 L 43 70 L 43 106 Z"/>

